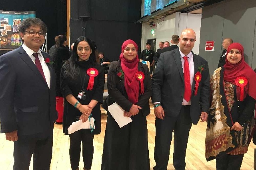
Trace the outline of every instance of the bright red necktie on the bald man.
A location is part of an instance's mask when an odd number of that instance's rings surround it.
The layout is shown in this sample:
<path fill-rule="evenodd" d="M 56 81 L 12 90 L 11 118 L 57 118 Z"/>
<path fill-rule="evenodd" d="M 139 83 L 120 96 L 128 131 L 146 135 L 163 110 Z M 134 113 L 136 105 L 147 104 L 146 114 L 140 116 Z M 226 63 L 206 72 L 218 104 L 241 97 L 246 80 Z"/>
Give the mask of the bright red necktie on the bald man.
<path fill-rule="evenodd" d="M 191 84 L 190 84 L 190 73 L 189 73 L 189 65 L 188 65 L 188 57 L 184 56 L 184 82 L 185 82 L 185 91 L 184 91 L 184 99 L 188 102 L 191 98 Z"/>

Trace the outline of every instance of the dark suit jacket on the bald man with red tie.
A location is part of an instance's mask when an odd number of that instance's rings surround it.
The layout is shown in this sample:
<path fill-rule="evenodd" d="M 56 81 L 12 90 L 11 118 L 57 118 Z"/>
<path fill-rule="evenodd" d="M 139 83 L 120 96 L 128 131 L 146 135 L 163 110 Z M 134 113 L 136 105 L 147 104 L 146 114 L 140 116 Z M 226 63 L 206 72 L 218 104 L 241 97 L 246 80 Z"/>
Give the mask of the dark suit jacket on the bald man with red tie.
<path fill-rule="evenodd" d="M 209 113 L 210 74 L 208 62 L 199 55 L 194 56 L 194 74 L 203 65 L 202 80 L 195 96 L 195 80 L 192 84 L 190 116 L 194 124 L 198 123 L 201 111 Z M 166 116 L 176 117 L 180 113 L 184 96 L 184 75 L 179 49 L 160 55 L 152 77 L 152 103 L 161 102 Z"/>

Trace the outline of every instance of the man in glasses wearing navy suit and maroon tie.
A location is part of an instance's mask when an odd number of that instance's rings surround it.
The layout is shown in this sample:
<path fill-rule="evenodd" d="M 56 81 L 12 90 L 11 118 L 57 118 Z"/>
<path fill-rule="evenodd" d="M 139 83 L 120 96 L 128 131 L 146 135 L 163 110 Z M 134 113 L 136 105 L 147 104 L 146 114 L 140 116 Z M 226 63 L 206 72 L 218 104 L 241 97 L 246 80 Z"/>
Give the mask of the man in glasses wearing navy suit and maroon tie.
<path fill-rule="evenodd" d="M 0 56 L 1 133 L 14 141 L 14 170 L 49 170 L 57 119 L 55 73 L 40 47 L 47 27 L 38 18 L 20 25 L 23 45 Z"/>

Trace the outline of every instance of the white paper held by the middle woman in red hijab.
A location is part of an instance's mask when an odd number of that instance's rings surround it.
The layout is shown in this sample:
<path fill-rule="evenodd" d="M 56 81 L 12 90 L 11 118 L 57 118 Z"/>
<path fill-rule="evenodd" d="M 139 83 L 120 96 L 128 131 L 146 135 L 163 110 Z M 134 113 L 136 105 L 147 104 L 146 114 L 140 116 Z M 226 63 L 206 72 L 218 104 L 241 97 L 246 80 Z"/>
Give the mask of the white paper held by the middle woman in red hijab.
<path fill-rule="evenodd" d="M 119 127 L 123 127 L 124 125 L 132 122 L 130 117 L 124 116 L 124 109 L 122 109 L 122 107 L 117 103 L 113 103 L 112 105 L 108 106 L 108 111 L 114 117 Z"/>

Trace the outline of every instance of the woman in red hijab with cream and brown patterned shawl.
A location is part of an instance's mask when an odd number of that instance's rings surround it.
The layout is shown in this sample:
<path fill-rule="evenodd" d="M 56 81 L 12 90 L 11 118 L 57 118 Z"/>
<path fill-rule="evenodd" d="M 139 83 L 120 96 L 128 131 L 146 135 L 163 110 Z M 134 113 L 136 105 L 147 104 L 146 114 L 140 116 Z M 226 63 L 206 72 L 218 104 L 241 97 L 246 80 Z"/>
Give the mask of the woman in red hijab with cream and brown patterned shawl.
<path fill-rule="evenodd" d="M 244 61 L 239 43 L 228 47 L 226 64 L 210 80 L 211 106 L 206 130 L 206 160 L 217 170 L 240 170 L 250 143 L 256 102 L 256 73 Z"/>

